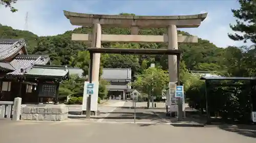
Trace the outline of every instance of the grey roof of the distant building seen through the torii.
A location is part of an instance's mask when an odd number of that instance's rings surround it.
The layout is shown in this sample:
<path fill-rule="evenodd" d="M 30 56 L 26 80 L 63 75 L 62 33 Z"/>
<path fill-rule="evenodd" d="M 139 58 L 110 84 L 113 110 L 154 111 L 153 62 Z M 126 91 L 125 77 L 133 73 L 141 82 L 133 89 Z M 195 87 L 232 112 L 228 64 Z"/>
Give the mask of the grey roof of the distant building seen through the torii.
<path fill-rule="evenodd" d="M 105 80 L 131 80 L 132 70 L 131 69 L 103 69 L 102 79 Z"/>

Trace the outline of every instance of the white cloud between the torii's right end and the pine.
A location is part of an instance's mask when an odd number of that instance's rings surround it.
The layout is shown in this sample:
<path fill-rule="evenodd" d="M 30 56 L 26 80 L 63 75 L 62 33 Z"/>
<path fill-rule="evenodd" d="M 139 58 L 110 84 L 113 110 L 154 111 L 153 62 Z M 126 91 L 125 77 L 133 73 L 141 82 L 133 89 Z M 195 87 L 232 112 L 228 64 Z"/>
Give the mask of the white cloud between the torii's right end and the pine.
<path fill-rule="evenodd" d="M 192 35 L 197 35 L 202 39 L 209 40 L 218 47 L 226 48 L 227 46 L 242 46 L 252 45 L 251 42 L 243 43 L 242 41 L 233 41 L 228 37 L 229 34 L 234 32 L 229 27 L 229 23 L 234 23 L 235 18 L 229 9 L 214 10 L 214 11 L 201 11 L 200 13 L 208 12 L 206 19 L 201 23 L 198 28 L 183 29 Z"/>

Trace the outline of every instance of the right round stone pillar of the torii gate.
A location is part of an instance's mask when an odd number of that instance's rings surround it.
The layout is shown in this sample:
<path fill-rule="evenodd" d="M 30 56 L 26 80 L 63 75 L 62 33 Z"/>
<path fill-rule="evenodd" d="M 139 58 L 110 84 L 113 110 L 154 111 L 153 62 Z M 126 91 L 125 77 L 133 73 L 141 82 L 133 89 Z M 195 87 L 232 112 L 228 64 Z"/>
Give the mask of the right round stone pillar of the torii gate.
<path fill-rule="evenodd" d="M 178 33 L 176 25 L 168 26 L 168 49 L 178 49 Z M 177 55 L 168 55 L 169 82 L 177 82 Z M 183 118 L 182 99 L 178 99 L 178 120 Z"/>

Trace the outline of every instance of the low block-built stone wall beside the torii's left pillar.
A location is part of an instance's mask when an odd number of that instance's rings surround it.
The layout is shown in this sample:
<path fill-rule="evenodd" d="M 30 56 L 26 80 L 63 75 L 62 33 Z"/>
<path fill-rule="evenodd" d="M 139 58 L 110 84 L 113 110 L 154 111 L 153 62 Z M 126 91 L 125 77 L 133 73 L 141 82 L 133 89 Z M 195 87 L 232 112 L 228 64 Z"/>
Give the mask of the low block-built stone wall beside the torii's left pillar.
<path fill-rule="evenodd" d="M 64 121 L 68 119 L 66 105 L 23 105 L 20 120 Z"/>

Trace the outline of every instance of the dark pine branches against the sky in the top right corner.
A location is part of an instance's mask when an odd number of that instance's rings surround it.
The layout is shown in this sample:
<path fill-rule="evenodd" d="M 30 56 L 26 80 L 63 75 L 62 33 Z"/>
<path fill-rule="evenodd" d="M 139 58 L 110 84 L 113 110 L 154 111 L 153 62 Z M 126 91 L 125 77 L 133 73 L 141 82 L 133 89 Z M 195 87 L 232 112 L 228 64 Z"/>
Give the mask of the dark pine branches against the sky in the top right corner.
<path fill-rule="evenodd" d="M 250 40 L 256 43 L 256 0 L 239 0 L 240 9 L 232 9 L 233 16 L 237 18 L 237 23 L 230 24 L 233 31 L 241 32 L 242 34 L 228 34 L 228 37 L 235 41 Z"/>

